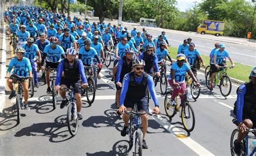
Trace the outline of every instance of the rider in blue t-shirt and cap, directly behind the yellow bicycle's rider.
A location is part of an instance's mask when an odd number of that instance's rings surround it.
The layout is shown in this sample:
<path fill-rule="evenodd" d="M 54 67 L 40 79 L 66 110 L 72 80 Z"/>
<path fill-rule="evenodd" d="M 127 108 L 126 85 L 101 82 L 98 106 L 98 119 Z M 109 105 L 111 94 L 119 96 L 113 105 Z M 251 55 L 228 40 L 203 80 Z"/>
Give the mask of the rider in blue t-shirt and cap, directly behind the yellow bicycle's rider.
<path fill-rule="evenodd" d="M 202 56 L 200 55 L 200 52 L 198 51 L 198 49 L 194 48 L 195 45 L 193 42 L 190 43 L 190 46 L 188 47 L 188 49 L 186 49 L 185 51 L 185 56 L 186 56 L 186 63 L 188 63 L 188 66 L 193 66 L 193 68 L 191 68 L 193 73 L 196 73 L 196 67 L 195 64 L 197 62 L 197 59 L 200 59 L 201 62 L 203 62 L 203 67 L 205 68 L 205 62 L 202 58 Z M 197 75 L 194 75 L 197 77 Z"/>

